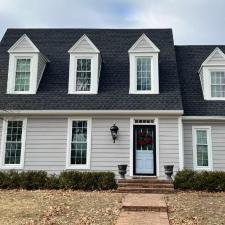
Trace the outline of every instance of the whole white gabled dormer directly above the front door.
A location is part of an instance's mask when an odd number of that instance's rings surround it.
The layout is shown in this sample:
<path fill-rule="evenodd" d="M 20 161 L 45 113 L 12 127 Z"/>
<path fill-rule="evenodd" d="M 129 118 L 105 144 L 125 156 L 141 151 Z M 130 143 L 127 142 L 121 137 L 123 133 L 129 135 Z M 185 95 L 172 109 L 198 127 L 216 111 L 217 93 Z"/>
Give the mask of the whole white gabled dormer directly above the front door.
<path fill-rule="evenodd" d="M 159 52 L 145 34 L 129 49 L 130 94 L 159 94 Z"/>

